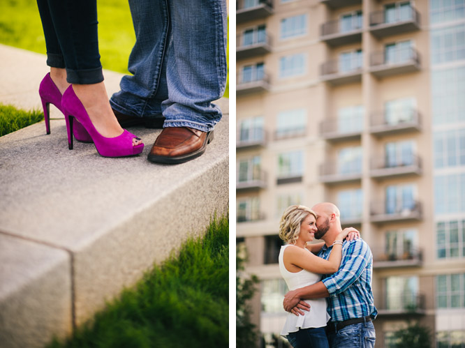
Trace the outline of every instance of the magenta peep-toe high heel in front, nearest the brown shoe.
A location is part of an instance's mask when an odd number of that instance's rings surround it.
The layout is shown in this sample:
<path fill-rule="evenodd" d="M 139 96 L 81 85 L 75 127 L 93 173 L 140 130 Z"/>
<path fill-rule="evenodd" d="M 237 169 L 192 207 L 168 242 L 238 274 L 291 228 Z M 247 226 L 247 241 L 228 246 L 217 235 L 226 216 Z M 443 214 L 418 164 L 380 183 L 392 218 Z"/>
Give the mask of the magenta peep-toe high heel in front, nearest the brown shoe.
<path fill-rule="evenodd" d="M 135 156 L 142 152 L 144 144 L 133 146 L 133 138 L 139 139 L 135 135 L 124 130 L 123 134 L 117 137 L 103 137 L 92 124 L 84 105 L 74 93 L 73 86 L 69 86 L 61 98 L 61 106 L 64 109 L 65 117 L 69 120 L 70 128 L 68 129 L 69 149 L 73 149 L 73 118 L 80 121 L 82 126 L 87 130 L 100 156 L 103 157 L 126 157 Z"/>

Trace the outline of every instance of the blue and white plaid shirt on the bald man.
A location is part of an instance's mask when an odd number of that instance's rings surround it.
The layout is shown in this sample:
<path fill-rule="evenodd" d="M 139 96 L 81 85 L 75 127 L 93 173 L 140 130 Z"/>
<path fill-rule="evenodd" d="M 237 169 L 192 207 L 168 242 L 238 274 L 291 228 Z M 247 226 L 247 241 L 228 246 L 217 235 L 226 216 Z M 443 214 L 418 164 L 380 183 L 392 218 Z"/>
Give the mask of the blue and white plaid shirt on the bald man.
<path fill-rule="evenodd" d="M 330 257 L 332 246 L 323 248 L 319 257 Z M 375 318 L 378 312 L 374 306 L 371 291 L 373 274 L 373 255 L 368 244 L 362 239 L 345 241 L 342 245 L 342 259 L 339 270 L 332 275 L 323 275 L 323 284 L 330 297 L 327 300 L 327 312 L 332 321 L 344 321 L 367 317 Z"/>

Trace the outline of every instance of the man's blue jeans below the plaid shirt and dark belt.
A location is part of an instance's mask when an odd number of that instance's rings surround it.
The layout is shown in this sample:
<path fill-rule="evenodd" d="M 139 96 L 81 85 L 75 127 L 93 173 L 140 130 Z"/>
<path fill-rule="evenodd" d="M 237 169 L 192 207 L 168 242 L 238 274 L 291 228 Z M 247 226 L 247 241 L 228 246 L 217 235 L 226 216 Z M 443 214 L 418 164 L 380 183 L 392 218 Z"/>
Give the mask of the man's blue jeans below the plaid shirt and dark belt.
<path fill-rule="evenodd" d="M 328 333 L 331 348 L 374 348 L 376 334 L 373 322 L 352 324 L 337 332 Z"/>

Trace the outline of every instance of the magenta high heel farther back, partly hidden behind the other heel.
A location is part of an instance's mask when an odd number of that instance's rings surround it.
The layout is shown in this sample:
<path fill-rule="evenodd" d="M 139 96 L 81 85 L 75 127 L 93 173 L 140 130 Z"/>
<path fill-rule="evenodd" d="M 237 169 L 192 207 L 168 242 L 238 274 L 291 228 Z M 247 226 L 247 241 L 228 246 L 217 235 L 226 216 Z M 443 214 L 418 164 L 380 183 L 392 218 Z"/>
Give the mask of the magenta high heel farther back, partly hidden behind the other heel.
<path fill-rule="evenodd" d="M 40 100 L 42 100 L 45 129 L 47 130 L 47 134 L 50 134 L 50 104 L 55 105 L 57 109 L 64 114 L 64 111 L 61 108 L 61 92 L 50 77 L 50 73 L 45 75 L 42 82 L 40 82 L 39 95 Z M 68 128 L 68 120 L 66 119 L 66 129 Z M 74 124 L 73 134 L 79 142 L 92 142 L 92 138 L 89 133 L 87 133 L 87 130 L 85 130 L 79 122 Z"/>

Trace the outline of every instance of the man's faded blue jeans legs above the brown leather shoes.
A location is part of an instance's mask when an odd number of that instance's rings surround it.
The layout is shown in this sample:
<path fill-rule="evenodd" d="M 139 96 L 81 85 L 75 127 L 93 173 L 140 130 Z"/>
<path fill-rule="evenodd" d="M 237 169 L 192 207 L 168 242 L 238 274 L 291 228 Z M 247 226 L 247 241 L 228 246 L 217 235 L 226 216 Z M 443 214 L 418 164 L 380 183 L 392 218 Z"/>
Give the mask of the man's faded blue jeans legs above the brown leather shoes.
<path fill-rule="evenodd" d="M 129 0 L 136 43 L 133 76 L 121 79 L 114 109 L 165 117 L 165 127 L 212 130 L 212 104 L 226 87 L 226 0 Z"/>

